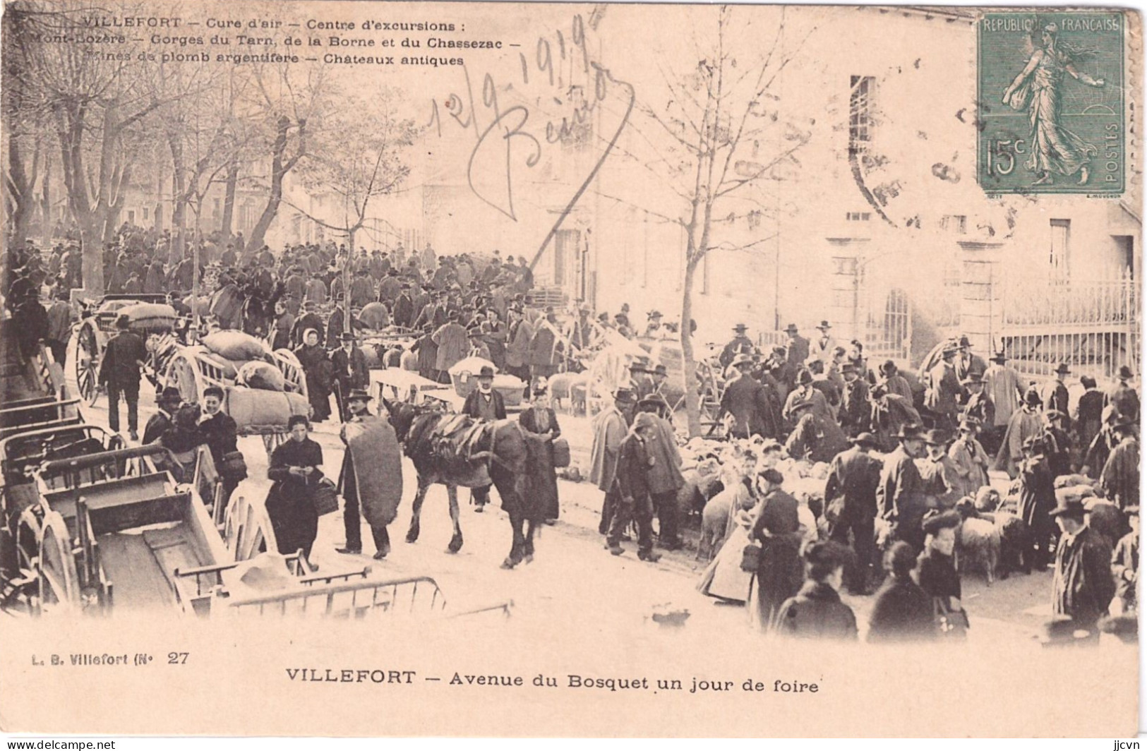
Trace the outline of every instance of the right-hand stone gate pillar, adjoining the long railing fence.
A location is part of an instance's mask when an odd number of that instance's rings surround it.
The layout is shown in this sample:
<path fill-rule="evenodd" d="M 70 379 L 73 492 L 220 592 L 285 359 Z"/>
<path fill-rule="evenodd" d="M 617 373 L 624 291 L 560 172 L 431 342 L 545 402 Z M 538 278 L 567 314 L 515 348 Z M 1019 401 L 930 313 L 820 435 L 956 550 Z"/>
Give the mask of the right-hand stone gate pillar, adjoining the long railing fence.
<path fill-rule="evenodd" d="M 1002 322 L 1000 256 L 1004 243 L 961 240 L 960 333 L 984 359 L 999 346 Z"/>

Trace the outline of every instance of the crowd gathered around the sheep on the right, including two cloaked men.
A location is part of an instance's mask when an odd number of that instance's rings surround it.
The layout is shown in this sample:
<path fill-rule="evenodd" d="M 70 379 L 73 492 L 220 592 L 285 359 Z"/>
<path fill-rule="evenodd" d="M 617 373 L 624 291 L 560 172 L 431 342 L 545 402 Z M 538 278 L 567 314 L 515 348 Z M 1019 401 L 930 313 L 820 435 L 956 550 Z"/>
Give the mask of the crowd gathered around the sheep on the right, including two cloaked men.
<path fill-rule="evenodd" d="M 726 468 L 724 546 L 703 593 L 746 603 L 752 623 L 782 634 L 855 639 L 843 588 L 876 595 L 872 641 L 962 635 L 955 556 L 966 519 L 996 509 L 983 502 L 998 499 L 991 471 L 1007 474 L 1009 513 L 1030 531 L 1023 560 L 1054 569 L 1050 631 L 1098 635 L 1105 616 L 1134 611 L 1139 399 L 1130 368 L 1105 391 L 1083 376 L 1071 399 L 1066 365 L 1036 383 L 1006 353 L 989 366 L 959 337 L 919 375 L 890 361 L 872 369 L 860 342 L 845 349 L 827 321 L 818 328 L 810 342 L 789 326 L 787 345 L 766 354 L 738 326 L 719 355 L 728 375 L 720 413 L 744 449 Z M 593 423 L 600 532 L 621 555 L 633 521 L 639 557 L 656 560 L 655 514 L 661 545 L 680 545 L 681 460 L 661 405 L 632 388 L 614 397 Z M 786 492 L 777 467 L 793 460 L 827 463 L 820 503 Z M 1084 499 L 1060 490 L 1069 482 L 1117 509 L 1114 532 L 1089 524 Z"/>

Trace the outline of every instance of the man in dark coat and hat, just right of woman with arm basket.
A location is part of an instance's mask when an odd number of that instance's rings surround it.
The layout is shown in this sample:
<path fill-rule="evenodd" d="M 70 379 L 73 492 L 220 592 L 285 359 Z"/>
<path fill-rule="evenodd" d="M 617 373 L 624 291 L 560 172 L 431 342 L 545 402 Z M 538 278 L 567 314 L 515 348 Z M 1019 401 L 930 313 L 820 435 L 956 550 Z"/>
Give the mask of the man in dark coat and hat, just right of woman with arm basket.
<path fill-rule="evenodd" d="M 849 545 L 857 554 L 857 565 L 844 571 L 844 584 L 852 594 L 872 594 L 871 569 L 880 565 L 876 555 L 876 485 L 882 464 L 871 452 L 880 448 L 876 437 L 860 432 L 852 446 L 833 457 L 825 484 L 828 539 Z M 879 571 L 879 568 L 876 569 Z"/>

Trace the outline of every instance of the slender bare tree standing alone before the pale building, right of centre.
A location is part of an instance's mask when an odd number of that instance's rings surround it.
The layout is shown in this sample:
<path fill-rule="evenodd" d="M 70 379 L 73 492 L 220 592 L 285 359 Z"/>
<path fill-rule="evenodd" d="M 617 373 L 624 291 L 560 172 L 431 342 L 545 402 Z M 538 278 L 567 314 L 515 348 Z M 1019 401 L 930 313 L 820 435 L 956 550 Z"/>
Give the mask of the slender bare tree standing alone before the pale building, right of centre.
<path fill-rule="evenodd" d="M 782 49 L 781 10 L 771 44 L 746 64 L 741 56 L 746 44 L 731 40 L 732 19 L 733 9 L 723 6 L 709 48 L 697 47 L 697 58 L 689 60 L 688 70 L 674 72 L 660 65 L 668 88 L 664 104 L 649 100 L 638 104 L 645 118 L 638 126 L 643 142 L 653 144 L 654 139 L 642 133 L 642 126 L 653 131 L 658 143 L 668 144 L 656 147 L 660 167 L 655 173 L 674 196 L 673 208 L 650 214 L 685 233 L 680 341 L 690 436 L 702 429 L 690 327 L 697 269 L 715 249 L 754 251 L 771 240 L 768 221 L 775 220 L 775 209 L 762 201 L 760 194 L 768 183 L 783 179 L 779 167 L 793 162 L 794 154 L 811 138 L 807 131 L 785 123 L 772 91 L 807 36 Z M 783 136 L 772 138 L 778 128 Z M 774 141 L 782 146 L 763 152 L 762 144 Z M 731 229 L 738 220 L 743 220 L 749 232 Z"/>

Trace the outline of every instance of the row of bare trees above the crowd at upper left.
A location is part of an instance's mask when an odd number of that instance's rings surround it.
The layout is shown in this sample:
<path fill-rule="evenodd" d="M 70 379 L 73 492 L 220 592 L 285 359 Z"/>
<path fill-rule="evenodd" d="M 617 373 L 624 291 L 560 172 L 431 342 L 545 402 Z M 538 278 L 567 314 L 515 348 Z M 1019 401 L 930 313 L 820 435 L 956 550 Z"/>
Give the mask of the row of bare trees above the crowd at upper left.
<path fill-rule="evenodd" d="M 145 10 L 124 3 L 97 13 Z M 104 288 L 101 248 L 123 221 L 132 185 L 154 180 L 156 195 L 171 196 L 170 252 L 178 261 L 188 230 L 201 226 L 212 186 L 225 186 L 220 225 L 228 236 L 240 186 L 264 196 L 245 238 L 257 249 L 292 171 L 337 194 L 346 220 L 321 224 L 342 234 L 353 232 L 352 216 L 361 227 L 370 196 L 405 178 L 401 150 L 415 128 L 395 114 L 388 92 L 369 102 L 373 111 L 383 110 L 385 127 L 370 130 L 361 116 L 346 117 L 366 111 L 365 102 L 351 105 L 320 63 L 167 62 L 143 45 L 42 41 L 92 32 L 84 16 L 93 13 L 50 0 L 7 6 L 0 81 L 8 238 L 28 236 L 37 218 L 50 232 L 52 187 L 62 183 L 83 240 L 86 289 Z M 262 166 L 249 170 L 252 164 Z"/>

